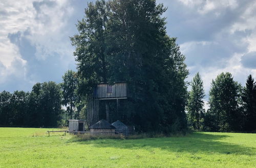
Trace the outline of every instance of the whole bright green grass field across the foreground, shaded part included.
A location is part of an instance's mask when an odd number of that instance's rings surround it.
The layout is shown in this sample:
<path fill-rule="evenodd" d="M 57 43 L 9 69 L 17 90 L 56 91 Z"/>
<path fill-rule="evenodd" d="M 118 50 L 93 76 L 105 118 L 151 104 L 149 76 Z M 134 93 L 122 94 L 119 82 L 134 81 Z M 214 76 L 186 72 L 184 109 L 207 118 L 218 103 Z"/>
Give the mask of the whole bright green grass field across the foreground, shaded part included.
<path fill-rule="evenodd" d="M 81 142 L 47 130 L 56 129 L 0 128 L 0 167 L 256 167 L 256 134 Z"/>

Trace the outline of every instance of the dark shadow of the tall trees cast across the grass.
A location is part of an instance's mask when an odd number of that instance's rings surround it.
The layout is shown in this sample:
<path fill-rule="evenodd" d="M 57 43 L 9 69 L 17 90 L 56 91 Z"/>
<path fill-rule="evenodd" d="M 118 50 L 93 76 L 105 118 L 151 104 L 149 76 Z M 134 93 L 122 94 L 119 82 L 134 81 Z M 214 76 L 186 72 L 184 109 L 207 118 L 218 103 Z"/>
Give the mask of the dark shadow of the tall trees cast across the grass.
<path fill-rule="evenodd" d="M 237 144 L 220 142 L 228 135 L 206 134 L 194 132 L 180 137 L 162 138 L 143 138 L 143 139 L 97 139 L 81 141 L 77 137 L 72 137 L 67 143 L 78 143 L 93 145 L 94 147 L 104 148 L 113 147 L 119 149 L 144 149 L 153 152 L 156 148 L 169 152 L 189 152 L 189 153 L 220 153 L 220 154 L 239 154 L 255 155 L 255 148 L 239 146 Z"/>

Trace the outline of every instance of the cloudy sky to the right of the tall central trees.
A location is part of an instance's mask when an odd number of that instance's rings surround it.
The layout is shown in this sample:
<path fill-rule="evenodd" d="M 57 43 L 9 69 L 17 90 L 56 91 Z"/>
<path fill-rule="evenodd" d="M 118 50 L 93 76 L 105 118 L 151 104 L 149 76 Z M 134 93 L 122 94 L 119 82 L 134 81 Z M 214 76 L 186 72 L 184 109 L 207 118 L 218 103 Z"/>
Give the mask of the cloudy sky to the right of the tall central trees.
<path fill-rule="evenodd" d="M 157 2 L 168 7 L 167 33 L 178 37 L 190 73 L 187 80 L 200 72 L 206 97 L 211 80 L 221 72 L 231 72 L 243 85 L 248 74 L 256 77 L 251 66 L 243 65 L 243 55 L 256 51 L 255 1 Z"/>

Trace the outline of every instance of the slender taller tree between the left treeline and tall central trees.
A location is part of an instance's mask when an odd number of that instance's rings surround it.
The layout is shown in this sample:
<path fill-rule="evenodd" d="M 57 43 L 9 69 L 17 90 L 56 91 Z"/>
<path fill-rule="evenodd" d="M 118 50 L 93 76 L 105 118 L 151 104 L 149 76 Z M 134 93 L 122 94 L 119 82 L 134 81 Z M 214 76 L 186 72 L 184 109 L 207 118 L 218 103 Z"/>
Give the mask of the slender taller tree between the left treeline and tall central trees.
<path fill-rule="evenodd" d="M 63 82 L 61 83 L 63 104 L 69 109 L 70 119 L 73 118 L 73 113 L 75 109 L 75 103 L 78 100 L 77 87 L 78 78 L 76 72 L 68 70 L 62 76 Z"/>

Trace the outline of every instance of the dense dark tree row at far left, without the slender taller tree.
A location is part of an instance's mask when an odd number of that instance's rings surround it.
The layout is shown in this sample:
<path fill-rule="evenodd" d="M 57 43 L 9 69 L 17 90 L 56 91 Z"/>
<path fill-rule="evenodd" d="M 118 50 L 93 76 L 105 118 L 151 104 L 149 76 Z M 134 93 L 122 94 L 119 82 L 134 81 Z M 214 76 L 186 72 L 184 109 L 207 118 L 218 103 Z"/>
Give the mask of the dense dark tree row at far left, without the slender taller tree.
<path fill-rule="evenodd" d="M 57 126 L 61 112 L 60 87 L 53 81 L 36 83 L 31 93 L 0 93 L 2 126 Z"/>

